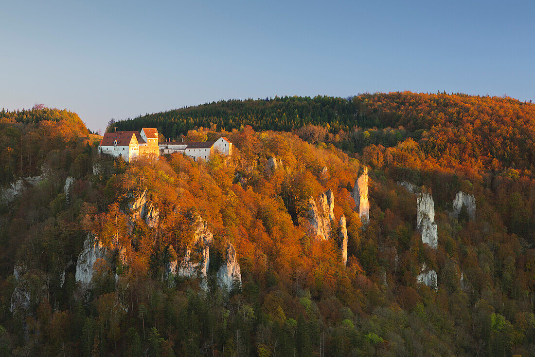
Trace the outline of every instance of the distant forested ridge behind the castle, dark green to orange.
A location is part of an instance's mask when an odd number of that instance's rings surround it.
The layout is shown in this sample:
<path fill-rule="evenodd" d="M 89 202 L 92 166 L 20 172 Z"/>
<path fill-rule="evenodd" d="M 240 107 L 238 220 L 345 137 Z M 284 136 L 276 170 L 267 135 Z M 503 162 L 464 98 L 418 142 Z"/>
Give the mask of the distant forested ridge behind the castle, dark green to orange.
<path fill-rule="evenodd" d="M 158 128 L 176 139 L 188 130 L 297 130 L 307 125 L 327 129 L 319 141 L 346 151 L 369 144 L 392 146 L 411 137 L 435 159 L 470 165 L 501 165 L 533 172 L 535 105 L 511 98 L 411 92 L 227 100 L 147 114 L 113 124 L 120 130 Z M 110 129 L 112 130 L 112 129 Z M 307 138 L 305 138 L 307 139 Z M 498 161 L 494 162 L 493 159 Z"/>

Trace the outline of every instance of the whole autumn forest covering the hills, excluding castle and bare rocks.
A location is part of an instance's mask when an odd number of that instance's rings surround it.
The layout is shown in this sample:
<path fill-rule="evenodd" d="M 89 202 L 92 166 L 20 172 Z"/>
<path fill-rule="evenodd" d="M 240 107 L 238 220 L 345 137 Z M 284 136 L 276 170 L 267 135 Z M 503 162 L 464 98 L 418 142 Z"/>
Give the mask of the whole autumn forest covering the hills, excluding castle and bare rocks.
<path fill-rule="evenodd" d="M 3 190 L 40 180 L 0 203 L 2 355 L 535 355 L 530 103 L 414 93 L 209 103 L 112 125 L 226 136 L 231 157 L 130 163 L 97 155 L 72 113 L 20 113 L 0 118 Z M 352 196 L 364 168 L 367 224 Z M 437 249 L 422 242 L 402 181 L 432 195 Z M 335 234 L 317 240 L 307 203 L 327 190 Z M 475 217 L 464 205 L 451 214 L 458 191 L 475 197 Z M 132 213 L 141 192 L 156 224 Z M 167 269 L 189 253 L 197 216 L 213 233 L 207 288 Z M 84 287 L 77 260 L 91 236 L 113 254 Z M 227 242 L 241 267 L 230 290 L 217 282 Z M 417 279 L 424 264 L 436 289 Z"/>

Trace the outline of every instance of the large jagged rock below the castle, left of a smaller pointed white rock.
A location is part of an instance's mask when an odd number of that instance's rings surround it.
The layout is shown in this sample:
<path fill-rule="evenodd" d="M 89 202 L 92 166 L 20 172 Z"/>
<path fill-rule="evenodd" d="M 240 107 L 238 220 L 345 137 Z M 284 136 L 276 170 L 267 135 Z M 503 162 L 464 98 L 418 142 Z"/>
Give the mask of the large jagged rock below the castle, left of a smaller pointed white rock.
<path fill-rule="evenodd" d="M 193 239 L 186 248 L 186 255 L 177 262 L 171 262 L 170 273 L 183 278 L 198 278 L 201 287 L 208 288 L 208 267 L 210 265 L 210 244 L 213 235 L 207 222 L 196 215 L 192 223 Z"/>

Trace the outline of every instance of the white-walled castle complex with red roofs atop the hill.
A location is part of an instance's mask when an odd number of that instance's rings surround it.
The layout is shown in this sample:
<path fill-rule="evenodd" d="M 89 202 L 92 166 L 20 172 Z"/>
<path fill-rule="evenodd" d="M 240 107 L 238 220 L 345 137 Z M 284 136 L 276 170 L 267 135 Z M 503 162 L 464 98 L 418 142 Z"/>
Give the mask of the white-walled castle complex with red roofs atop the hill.
<path fill-rule="evenodd" d="M 139 131 L 117 131 L 104 134 L 100 145 L 99 154 L 109 154 L 121 157 L 129 162 L 143 154 L 181 153 L 189 157 L 208 160 L 214 152 L 220 152 L 226 156 L 232 154 L 232 143 L 226 137 L 221 137 L 215 142 L 169 142 L 158 144 L 158 130 L 156 128 L 143 128 Z"/>

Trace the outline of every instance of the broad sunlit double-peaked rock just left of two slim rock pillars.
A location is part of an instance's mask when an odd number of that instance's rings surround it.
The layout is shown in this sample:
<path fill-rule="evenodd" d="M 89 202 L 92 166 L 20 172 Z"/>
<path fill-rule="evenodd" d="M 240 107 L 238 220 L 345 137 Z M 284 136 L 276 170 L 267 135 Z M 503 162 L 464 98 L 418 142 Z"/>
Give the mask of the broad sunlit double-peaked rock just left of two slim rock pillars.
<path fill-rule="evenodd" d="M 331 237 L 331 222 L 334 220 L 334 195 L 331 190 L 318 196 L 318 204 L 314 198 L 308 199 L 309 234 L 319 240 Z"/>

